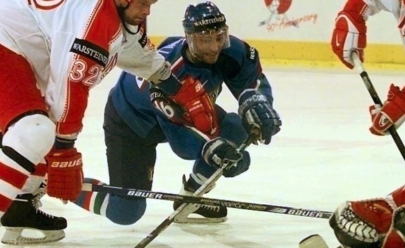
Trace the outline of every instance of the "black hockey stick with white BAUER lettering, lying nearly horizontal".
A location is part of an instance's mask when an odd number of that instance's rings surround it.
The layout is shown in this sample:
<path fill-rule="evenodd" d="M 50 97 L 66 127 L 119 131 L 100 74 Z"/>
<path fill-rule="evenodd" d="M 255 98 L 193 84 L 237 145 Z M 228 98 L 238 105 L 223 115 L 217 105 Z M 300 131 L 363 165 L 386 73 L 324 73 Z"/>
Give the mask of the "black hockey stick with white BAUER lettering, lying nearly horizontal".
<path fill-rule="evenodd" d="M 281 213 L 285 215 L 296 215 L 303 217 L 321 218 L 329 219 L 333 213 L 320 211 L 320 210 L 310 210 L 304 208 L 292 208 L 289 206 L 274 206 L 267 204 L 255 204 L 251 202 L 244 201 L 229 201 L 223 199 L 205 198 L 205 197 L 191 197 L 186 195 L 176 195 L 164 192 L 154 192 L 149 190 L 136 190 L 128 188 L 119 188 L 109 185 L 95 185 L 90 183 L 84 183 L 82 190 L 93 191 L 93 192 L 104 192 L 112 195 L 124 195 L 127 197 L 134 198 L 149 198 L 149 199 L 159 199 L 166 201 L 184 201 L 189 204 L 206 204 L 212 206 L 226 206 L 228 208 L 238 208 L 244 210 L 255 210 L 260 212 L 269 213 Z"/>

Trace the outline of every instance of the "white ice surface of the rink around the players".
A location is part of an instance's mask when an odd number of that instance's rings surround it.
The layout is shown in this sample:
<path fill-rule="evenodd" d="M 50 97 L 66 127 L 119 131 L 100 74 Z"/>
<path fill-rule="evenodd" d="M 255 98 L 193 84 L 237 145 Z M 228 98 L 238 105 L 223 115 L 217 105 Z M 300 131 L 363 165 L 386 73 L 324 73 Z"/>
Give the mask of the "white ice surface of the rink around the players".
<path fill-rule="evenodd" d="M 102 113 L 106 94 L 119 72 L 113 71 L 90 92 L 84 130 L 77 148 L 84 173 L 108 183 Z M 269 69 L 274 108 L 283 126 L 271 145 L 248 147 L 252 165 L 233 179 L 221 178 L 207 197 L 257 204 L 333 211 L 349 199 L 380 197 L 405 183 L 405 161 L 390 136 L 368 131 L 372 99 L 355 71 L 349 69 Z M 390 83 L 404 85 L 404 73 L 369 71 L 381 99 Z M 219 104 L 235 111 L 228 92 Z M 405 128 L 399 129 L 405 138 Z M 167 144 L 158 147 L 154 191 L 175 193 L 192 161 L 177 158 Z M 171 201 L 148 199 L 143 218 L 118 226 L 74 204 L 42 198 L 42 210 L 67 218 L 66 237 L 37 247 L 134 247 L 173 212 Z M 293 248 L 319 233 L 337 246 L 327 220 L 253 210 L 228 209 L 223 224 L 171 224 L 148 247 L 159 248 Z"/>

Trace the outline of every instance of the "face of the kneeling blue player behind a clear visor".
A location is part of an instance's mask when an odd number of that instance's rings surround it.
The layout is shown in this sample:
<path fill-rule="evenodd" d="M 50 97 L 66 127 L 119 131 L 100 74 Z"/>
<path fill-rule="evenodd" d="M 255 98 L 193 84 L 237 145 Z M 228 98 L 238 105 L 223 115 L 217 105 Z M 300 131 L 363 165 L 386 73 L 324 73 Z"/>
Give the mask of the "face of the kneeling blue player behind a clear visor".
<path fill-rule="evenodd" d="M 214 64 L 218 60 L 219 53 L 223 48 L 225 42 L 225 34 L 216 31 L 212 33 L 196 33 L 194 35 L 194 49 L 196 56 L 202 62 L 207 64 Z"/>

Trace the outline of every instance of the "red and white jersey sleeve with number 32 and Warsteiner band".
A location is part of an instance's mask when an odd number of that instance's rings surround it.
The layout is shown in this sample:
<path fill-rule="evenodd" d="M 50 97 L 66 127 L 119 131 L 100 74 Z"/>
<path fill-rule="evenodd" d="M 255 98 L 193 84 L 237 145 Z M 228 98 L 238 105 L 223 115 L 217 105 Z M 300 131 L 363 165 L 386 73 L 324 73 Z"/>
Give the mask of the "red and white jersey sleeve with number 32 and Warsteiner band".
<path fill-rule="evenodd" d="M 94 5 L 86 6 L 81 1 L 70 4 L 55 15 L 58 21 L 54 20 L 51 33 L 51 73 L 45 93 L 56 133 L 63 137 L 81 131 L 89 90 L 115 65 L 111 47 L 117 47 L 122 36 L 113 1 L 93 1 Z M 79 12 L 69 11 L 84 7 Z"/>

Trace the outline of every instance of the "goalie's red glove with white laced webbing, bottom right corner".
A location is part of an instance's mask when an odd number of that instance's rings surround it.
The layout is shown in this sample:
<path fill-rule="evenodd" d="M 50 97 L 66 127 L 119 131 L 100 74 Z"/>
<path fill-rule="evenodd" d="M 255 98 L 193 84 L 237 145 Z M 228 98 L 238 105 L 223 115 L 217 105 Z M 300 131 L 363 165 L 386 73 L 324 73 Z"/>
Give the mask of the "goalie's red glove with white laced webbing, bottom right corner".
<path fill-rule="evenodd" d="M 347 247 L 381 247 L 392 222 L 389 199 L 347 201 L 329 220 L 337 240 Z"/>

